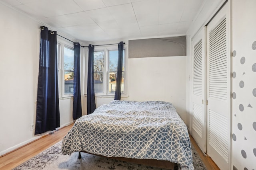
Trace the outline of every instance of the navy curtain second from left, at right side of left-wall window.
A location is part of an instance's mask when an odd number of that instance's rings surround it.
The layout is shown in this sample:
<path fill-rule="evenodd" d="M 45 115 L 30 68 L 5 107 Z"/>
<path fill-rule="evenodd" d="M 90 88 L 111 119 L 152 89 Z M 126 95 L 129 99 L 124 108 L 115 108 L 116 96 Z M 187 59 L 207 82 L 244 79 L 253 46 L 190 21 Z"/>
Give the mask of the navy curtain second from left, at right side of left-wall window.
<path fill-rule="evenodd" d="M 81 85 L 80 85 L 80 43 L 74 43 L 74 100 L 73 119 L 82 116 Z"/>

